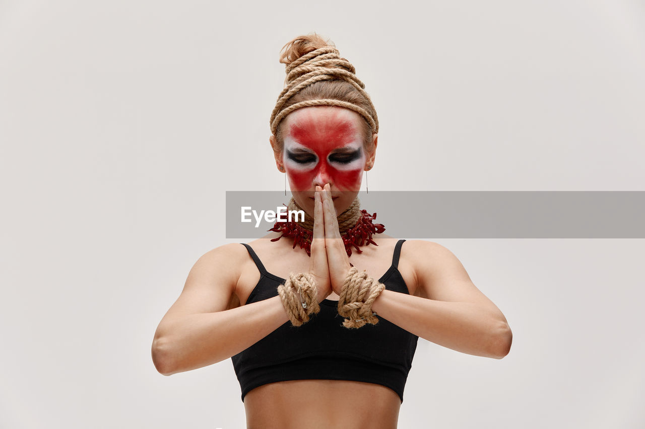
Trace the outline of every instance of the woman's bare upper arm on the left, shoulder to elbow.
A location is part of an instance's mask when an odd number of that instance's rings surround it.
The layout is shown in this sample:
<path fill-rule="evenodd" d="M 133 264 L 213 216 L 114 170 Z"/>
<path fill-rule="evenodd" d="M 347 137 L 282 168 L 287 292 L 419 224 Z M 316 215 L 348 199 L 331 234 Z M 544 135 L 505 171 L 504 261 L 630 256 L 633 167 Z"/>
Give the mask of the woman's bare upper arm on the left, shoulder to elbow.
<path fill-rule="evenodd" d="M 157 331 L 175 318 L 228 309 L 240 277 L 241 251 L 246 252 L 241 245 L 229 243 L 201 256 L 190 269 L 181 295 L 166 312 Z"/>

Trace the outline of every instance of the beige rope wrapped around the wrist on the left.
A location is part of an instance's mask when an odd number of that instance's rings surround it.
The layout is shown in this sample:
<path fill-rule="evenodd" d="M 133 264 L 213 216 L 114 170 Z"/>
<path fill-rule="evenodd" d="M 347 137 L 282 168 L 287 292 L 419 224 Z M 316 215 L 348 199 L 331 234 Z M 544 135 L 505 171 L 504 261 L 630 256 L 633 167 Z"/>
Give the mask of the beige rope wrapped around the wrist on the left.
<path fill-rule="evenodd" d="M 318 289 L 308 272 L 289 274 L 284 285 L 278 286 L 278 294 L 293 326 L 301 326 L 309 321 L 309 316 L 321 310 Z"/>

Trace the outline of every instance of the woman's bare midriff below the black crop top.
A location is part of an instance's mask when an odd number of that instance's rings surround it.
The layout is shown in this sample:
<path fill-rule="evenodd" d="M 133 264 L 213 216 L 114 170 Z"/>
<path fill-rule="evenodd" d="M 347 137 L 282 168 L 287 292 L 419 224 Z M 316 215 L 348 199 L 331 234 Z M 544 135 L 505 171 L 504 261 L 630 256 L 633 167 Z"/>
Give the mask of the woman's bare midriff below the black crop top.
<path fill-rule="evenodd" d="M 342 380 L 293 380 L 244 396 L 247 429 L 395 429 L 401 399 L 392 389 Z"/>

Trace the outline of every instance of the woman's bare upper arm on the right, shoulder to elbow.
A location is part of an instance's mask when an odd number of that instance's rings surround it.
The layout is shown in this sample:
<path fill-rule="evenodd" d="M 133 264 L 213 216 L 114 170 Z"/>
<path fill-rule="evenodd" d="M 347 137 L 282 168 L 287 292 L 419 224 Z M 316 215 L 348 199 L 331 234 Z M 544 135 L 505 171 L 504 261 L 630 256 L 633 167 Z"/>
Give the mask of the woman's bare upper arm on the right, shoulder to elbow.
<path fill-rule="evenodd" d="M 417 287 L 424 296 L 437 301 L 475 303 L 504 318 L 497 306 L 473 284 L 457 256 L 446 247 L 422 240 L 409 240 L 406 245 Z"/>

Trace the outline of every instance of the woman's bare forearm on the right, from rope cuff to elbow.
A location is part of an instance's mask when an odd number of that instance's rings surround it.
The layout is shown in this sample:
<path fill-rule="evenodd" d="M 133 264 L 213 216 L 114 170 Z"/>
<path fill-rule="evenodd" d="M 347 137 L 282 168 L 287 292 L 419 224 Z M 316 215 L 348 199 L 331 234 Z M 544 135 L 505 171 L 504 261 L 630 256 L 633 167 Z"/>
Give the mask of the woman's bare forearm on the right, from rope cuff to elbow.
<path fill-rule="evenodd" d="M 504 316 L 475 303 L 385 290 L 372 310 L 412 334 L 458 352 L 501 359 L 510 349 L 512 334 Z"/>

